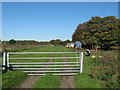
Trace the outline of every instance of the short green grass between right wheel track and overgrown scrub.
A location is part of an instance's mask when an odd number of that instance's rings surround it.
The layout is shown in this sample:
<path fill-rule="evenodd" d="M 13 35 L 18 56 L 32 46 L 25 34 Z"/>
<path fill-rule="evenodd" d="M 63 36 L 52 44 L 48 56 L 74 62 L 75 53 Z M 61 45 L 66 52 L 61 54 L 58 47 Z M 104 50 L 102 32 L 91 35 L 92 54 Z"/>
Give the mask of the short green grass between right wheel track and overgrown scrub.
<path fill-rule="evenodd" d="M 100 80 L 91 77 L 91 70 L 94 66 L 90 63 L 91 56 L 84 56 L 83 73 L 75 76 L 75 88 L 102 88 Z"/>

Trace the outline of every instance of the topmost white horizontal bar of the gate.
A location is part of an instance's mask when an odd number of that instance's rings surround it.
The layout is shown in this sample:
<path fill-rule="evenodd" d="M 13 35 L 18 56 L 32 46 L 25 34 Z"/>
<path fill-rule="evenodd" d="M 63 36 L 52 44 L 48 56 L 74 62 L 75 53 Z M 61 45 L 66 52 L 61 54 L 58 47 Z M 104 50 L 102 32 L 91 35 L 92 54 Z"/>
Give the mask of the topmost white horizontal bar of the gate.
<path fill-rule="evenodd" d="M 80 52 L 9 52 L 9 54 L 51 54 L 51 53 L 80 53 Z"/>

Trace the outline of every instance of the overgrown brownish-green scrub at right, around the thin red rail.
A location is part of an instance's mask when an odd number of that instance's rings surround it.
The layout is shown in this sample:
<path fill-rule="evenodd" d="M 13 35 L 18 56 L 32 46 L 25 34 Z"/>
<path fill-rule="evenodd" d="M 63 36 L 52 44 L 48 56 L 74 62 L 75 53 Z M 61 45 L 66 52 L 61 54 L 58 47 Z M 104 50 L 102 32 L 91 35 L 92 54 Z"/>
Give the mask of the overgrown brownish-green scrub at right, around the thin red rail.
<path fill-rule="evenodd" d="M 99 66 L 100 68 L 110 67 L 111 69 L 95 70 L 95 78 L 101 80 L 105 88 L 119 88 L 118 78 L 120 76 L 118 73 L 120 69 L 114 68 L 119 67 L 118 51 L 100 51 L 98 56 L 102 57 L 95 59 L 93 62 L 94 66 Z"/>

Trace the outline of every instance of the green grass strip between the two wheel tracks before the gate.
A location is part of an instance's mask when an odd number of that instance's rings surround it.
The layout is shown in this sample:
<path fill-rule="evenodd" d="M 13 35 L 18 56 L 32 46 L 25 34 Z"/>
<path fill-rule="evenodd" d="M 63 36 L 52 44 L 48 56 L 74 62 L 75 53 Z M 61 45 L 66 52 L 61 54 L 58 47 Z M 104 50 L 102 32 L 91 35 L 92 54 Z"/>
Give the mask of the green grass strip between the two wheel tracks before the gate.
<path fill-rule="evenodd" d="M 60 76 L 41 76 L 33 85 L 33 88 L 60 88 Z"/>

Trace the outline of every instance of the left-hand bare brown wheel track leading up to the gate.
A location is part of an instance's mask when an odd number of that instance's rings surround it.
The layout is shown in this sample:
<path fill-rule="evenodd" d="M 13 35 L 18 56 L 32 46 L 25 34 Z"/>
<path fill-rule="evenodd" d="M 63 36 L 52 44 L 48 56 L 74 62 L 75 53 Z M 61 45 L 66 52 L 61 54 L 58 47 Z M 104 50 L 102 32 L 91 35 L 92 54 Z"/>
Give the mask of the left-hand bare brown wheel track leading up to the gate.
<path fill-rule="evenodd" d="M 49 59 L 48 62 L 52 62 L 52 59 Z M 47 68 L 47 67 L 46 67 Z M 45 70 L 43 70 L 45 71 Z M 42 73 L 41 73 L 42 74 Z M 32 88 L 34 83 L 40 78 L 41 76 L 30 76 L 28 77 L 20 86 L 20 88 Z"/>

